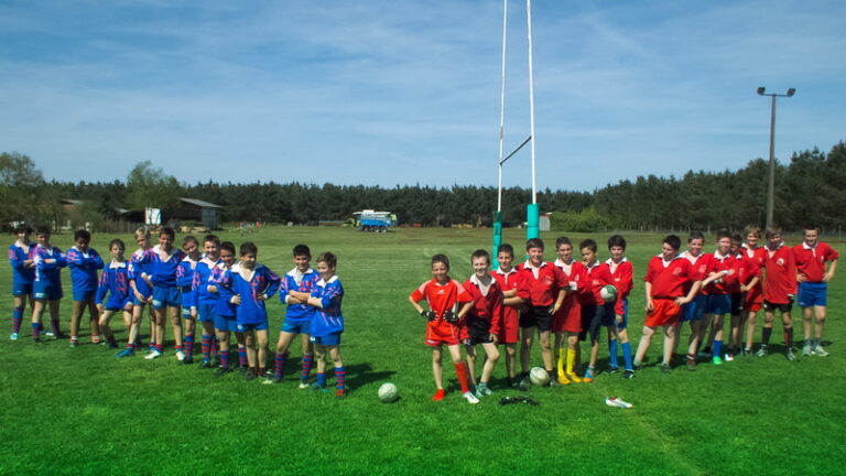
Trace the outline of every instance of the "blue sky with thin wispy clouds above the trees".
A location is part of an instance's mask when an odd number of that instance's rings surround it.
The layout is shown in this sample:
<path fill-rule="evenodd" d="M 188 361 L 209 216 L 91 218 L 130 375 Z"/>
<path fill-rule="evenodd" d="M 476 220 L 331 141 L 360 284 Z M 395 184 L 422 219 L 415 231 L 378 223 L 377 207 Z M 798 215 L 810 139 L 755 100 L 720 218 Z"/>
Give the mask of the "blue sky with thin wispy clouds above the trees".
<path fill-rule="evenodd" d="M 539 187 L 846 139 L 846 3 L 533 2 Z M 0 0 L 0 151 L 48 178 L 496 185 L 502 2 Z M 529 133 L 509 2 L 506 149 Z M 529 149 L 506 185 L 530 186 Z"/>

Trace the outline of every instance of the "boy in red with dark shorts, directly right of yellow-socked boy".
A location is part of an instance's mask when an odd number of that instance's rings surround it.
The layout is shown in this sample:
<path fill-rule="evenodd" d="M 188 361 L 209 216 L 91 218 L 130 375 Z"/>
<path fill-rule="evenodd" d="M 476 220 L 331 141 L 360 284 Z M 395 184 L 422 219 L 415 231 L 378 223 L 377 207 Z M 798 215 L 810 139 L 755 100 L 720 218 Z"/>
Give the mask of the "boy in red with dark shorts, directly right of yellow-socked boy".
<path fill-rule="evenodd" d="M 590 316 L 587 328 L 582 329 L 582 333 L 587 332 L 590 334 L 590 360 L 587 365 L 587 371 L 585 371 L 585 382 L 594 381 L 596 376 L 596 361 L 599 358 L 600 327 L 606 326 L 610 328 L 615 325 L 614 314 L 606 315 L 605 300 L 601 296 L 603 288 L 611 284 L 614 278 L 611 278 L 611 271 L 608 266 L 596 259 L 597 248 L 598 245 L 592 239 L 586 239 L 578 245 L 578 249 L 582 251 L 582 263 L 587 269 L 587 280 L 589 283 L 589 294 L 584 294 L 587 296 L 587 300 L 582 302 L 583 315 Z"/>

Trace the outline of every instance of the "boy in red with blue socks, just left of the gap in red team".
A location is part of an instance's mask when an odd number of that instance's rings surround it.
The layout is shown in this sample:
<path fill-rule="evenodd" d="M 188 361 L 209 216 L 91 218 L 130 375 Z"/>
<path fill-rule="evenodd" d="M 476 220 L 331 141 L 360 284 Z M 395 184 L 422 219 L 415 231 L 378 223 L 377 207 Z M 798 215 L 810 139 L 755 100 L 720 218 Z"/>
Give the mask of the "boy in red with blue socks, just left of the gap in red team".
<path fill-rule="evenodd" d="M 634 377 L 634 365 L 632 363 L 631 344 L 629 343 L 629 293 L 634 286 L 634 268 L 626 259 L 626 238 L 620 235 L 614 235 L 608 238 L 608 251 L 611 257 L 605 261 L 614 279 L 614 286 L 617 288 L 617 300 L 605 305 L 606 313 L 612 313 L 615 324 L 608 327 L 608 360 L 611 365 L 611 371 L 619 367 L 617 360 L 617 340 L 622 348 L 622 361 L 626 370 L 622 378 L 630 379 Z"/>

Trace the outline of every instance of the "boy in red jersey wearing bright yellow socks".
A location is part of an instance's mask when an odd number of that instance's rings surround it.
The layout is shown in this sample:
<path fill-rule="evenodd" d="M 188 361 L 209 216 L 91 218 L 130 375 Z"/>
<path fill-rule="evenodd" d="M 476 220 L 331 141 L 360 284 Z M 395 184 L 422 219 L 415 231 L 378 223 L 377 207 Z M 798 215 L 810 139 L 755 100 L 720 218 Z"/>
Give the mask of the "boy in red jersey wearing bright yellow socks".
<path fill-rule="evenodd" d="M 555 331 L 555 356 L 557 357 L 557 382 L 570 385 L 582 382 L 582 377 L 574 370 L 578 356 L 578 334 L 582 332 L 582 302 L 579 294 L 589 292 L 590 280 L 587 277 L 587 268 L 573 259 L 573 242 L 567 237 L 555 240 L 555 250 L 558 259 L 555 267 L 558 268 L 570 282 L 570 291 L 564 296 L 561 309 L 552 316 L 552 328 Z M 566 348 L 562 348 L 564 336 L 567 337 Z M 566 366 L 565 366 L 566 363 Z"/>

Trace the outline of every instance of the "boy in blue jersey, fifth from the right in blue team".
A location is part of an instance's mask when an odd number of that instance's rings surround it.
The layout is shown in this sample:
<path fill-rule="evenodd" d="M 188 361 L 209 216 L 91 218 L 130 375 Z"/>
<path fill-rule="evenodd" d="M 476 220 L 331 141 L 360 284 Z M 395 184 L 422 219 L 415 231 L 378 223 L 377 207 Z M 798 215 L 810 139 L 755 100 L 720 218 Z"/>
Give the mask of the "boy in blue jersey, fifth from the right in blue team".
<path fill-rule="evenodd" d="M 235 259 L 235 248 L 229 252 L 229 257 Z M 200 351 L 203 353 L 202 368 L 212 368 L 212 350 L 215 345 L 215 333 L 221 331 L 228 333 L 232 329 L 226 324 L 226 328 L 215 329 L 215 307 L 218 295 L 208 291 L 208 282 L 212 272 L 220 260 L 220 239 L 215 235 L 206 235 L 203 238 L 203 259 L 194 267 L 194 281 L 192 283 L 193 299 L 192 313 L 203 326 L 203 340 L 200 342 Z M 231 264 L 230 264 L 231 266 Z M 225 321 L 224 321 L 225 322 Z M 187 357 L 187 356 L 186 356 Z M 245 360 L 247 359 L 245 351 Z M 184 361 L 184 364 L 189 364 Z"/>

